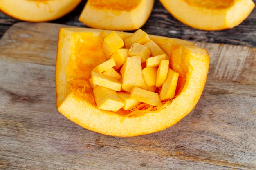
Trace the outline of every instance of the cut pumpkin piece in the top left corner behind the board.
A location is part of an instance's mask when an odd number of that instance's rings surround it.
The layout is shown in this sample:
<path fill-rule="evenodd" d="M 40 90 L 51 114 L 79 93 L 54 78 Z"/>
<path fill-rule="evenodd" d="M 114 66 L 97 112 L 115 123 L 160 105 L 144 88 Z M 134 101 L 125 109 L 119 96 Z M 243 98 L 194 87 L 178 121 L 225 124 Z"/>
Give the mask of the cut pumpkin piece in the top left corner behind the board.
<path fill-rule="evenodd" d="M 0 0 L 0 11 L 28 22 L 47 22 L 73 11 L 81 0 Z"/>

